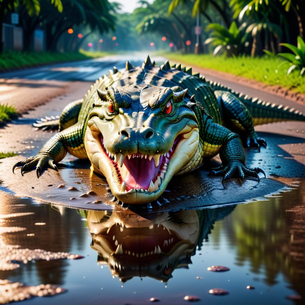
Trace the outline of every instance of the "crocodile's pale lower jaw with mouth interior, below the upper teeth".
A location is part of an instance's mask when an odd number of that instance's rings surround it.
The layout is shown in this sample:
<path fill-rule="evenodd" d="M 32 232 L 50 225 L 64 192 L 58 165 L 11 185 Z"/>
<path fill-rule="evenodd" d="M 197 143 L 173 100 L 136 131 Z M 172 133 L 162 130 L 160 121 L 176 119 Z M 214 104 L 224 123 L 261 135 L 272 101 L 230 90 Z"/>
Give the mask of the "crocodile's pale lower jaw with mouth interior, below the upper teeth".
<path fill-rule="evenodd" d="M 95 124 L 88 124 L 84 142 L 94 169 L 106 177 L 113 195 L 125 203 L 142 204 L 156 200 L 171 177 L 189 161 L 191 152 L 185 151 L 189 150 L 187 141 L 194 130 L 198 133 L 196 126 L 186 125 L 168 151 L 156 150 L 150 154 L 124 150 L 112 152 L 104 145 L 102 133 Z M 177 151 L 181 147 L 182 156 Z M 134 172 L 134 165 L 140 170 Z"/>

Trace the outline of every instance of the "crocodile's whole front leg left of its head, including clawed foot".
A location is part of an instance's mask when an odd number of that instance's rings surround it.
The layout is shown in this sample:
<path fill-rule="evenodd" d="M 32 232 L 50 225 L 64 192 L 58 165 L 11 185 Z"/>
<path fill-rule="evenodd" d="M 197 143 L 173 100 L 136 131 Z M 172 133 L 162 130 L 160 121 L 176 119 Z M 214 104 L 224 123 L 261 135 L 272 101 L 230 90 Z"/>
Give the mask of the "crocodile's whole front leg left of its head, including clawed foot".
<path fill-rule="evenodd" d="M 41 171 L 47 167 L 58 171 L 55 163 L 64 158 L 69 151 L 75 156 L 85 157 L 85 149 L 82 141 L 82 125 L 74 124 L 53 135 L 41 148 L 35 156 L 30 156 L 22 161 L 17 162 L 16 167 L 21 167 L 21 175 L 24 171 L 32 170 L 36 167 L 36 174 L 39 177 Z"/>

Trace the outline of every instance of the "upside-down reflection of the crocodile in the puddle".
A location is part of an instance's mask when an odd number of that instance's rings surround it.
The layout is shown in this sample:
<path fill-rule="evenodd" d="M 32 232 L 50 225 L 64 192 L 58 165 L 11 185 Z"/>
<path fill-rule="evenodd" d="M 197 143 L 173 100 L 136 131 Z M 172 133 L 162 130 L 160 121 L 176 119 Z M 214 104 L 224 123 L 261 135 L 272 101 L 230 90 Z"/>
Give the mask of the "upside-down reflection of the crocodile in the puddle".
<path fill-rule="evenodd" d="M 232 209 L 153 214 L 88 210 L 86 217 L 98 263 L 107 263 L 113 276 L 123 282 L 134 276 L 167 282 L 175 268 L 188 267 L 219 214 L 222 218 Z"/>

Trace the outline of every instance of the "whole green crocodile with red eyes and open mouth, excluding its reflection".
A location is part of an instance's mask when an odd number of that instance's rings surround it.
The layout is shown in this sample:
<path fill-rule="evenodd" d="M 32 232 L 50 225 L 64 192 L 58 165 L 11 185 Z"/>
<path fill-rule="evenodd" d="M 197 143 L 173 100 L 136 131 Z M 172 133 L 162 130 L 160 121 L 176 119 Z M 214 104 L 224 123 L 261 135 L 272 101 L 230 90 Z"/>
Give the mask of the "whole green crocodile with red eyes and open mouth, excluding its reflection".
<path fill-rule="evenodd" d="M 21 167 L 23 176 L 36 168 L 39 177 L 47 167 L 58 170 L 55 163 L 69 152 L 89 158 L 114 200 L 150 204 L 173 175 L 218 153 L 222 163 L 210 175 L 223 176 L 223 186 L 232 177 L 241 184 L 245 178 L 259 182 L 258 173 L 265 173 L 246 166 L 242 147 L 266 147 L 253 126 L 304 118 L 298 110 L 235 92 L 181 64 L 158 66 L 147 56 L 141 66 L 127 61 L 124 71 L 113 67 L 99 77 L 82 99 L 63 109 L 58 132 L 38 154 L 12 170 Z"/>

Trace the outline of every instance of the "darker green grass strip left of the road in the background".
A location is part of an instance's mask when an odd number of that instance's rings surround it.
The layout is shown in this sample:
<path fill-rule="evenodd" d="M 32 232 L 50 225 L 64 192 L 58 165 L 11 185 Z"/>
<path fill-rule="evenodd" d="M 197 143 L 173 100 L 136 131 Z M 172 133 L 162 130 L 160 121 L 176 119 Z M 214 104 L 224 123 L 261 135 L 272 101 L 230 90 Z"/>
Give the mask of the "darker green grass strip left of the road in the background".
<path fill-rule="evenodd" d="M 7 51 L 0 53 L 0 71 L 48 63 L 85 60 L 107 54 L 107 52 L 88 52 L 84 50 L 66 53 Z"/>

